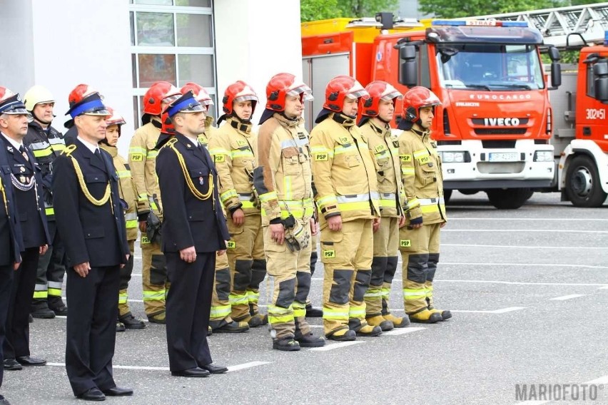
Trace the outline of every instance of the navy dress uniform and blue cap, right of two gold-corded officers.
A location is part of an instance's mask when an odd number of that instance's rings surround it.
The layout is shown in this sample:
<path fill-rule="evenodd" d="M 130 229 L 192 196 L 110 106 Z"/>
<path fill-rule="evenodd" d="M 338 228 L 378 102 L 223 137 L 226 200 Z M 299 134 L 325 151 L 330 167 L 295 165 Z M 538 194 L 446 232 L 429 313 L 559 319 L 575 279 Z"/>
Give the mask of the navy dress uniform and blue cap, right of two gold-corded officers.
<path fill-rule="evenodd" d="M 216 252 L 226 250 L 230 235 L 213 160 L 196 139 L 202 130 L 188 133 L 188 138 L 179 132 L 186 118 L 175 117 L 187 113 L 183 115 L 201 118 L 201 104 L 188 92 L 166 111 L 176 134 L 159 151 L 156 173 L 164 210 L 161 248 L 171 280 L 166 299 L 169 368 L 174 376 L 208 376 L 227 371 L 212 364 L 207 332 Z M 201 121 L 204 125 L 204 116 Z M 196 256 L 186 262 L 180 251 L 191 247 Z"/>

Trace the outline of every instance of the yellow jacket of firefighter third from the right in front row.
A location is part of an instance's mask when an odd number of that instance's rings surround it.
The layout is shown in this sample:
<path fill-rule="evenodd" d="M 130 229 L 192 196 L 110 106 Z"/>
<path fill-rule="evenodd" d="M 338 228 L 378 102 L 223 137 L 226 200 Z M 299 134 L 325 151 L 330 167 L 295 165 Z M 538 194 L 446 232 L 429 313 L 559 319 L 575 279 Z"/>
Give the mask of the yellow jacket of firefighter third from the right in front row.
<path fill-rule="evenodd" d="M 321 229 L 333 215 L 343 221 L 380 216 L 373 158 L 353 119 L 330 113 L 310 132 L 310 150 Z"/>

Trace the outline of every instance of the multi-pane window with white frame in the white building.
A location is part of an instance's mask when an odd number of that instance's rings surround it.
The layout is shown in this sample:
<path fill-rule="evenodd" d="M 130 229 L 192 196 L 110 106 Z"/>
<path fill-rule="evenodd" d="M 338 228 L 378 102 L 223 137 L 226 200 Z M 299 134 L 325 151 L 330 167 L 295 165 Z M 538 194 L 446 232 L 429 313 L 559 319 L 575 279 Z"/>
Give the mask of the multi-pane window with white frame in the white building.
<path fill-rule="evenodd" d="M 143 94 L 155 81 L 189 81 L 217 100 L 211 0 L 129 0 L 133 110 L 141 123 Z M 213 108 L 209 111 L 215 114 Z"/>

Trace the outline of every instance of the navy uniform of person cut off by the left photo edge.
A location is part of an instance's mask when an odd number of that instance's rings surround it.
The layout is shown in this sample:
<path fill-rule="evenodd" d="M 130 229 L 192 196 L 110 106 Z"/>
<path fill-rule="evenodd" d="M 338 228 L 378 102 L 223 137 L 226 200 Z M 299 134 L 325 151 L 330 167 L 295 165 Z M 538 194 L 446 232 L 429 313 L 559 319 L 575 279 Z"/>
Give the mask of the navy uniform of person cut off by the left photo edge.
<path fill-rule="evenodd" d="M 17 219 L 15 195 L 11 185 L 11 169 L 6 153 L 0 152 L 0 358 L 6 335 L 6 315 L 9 312 L 14 263 L 21 261 L 22 237 Z M 0 367 L 0 387 L 4 367 Z M 0 404 L 8 401 L 0 395 Z"/>

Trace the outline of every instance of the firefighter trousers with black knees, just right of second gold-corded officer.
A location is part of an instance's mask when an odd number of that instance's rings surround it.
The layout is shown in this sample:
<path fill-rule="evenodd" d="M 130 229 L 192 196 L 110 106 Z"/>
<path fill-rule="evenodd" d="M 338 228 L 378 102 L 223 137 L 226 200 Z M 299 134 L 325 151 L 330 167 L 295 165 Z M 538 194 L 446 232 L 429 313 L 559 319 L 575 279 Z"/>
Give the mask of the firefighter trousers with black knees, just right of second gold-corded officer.
<path fill-rule="evenodd" d="M 245 215 L 245 222 L 237 227 L 228 215 L 228 262 L 230 264 L 231 317 L 242 321 L 258 314 L 260 282 L 266 275 L 264 236 L 260 215 Z"/>

